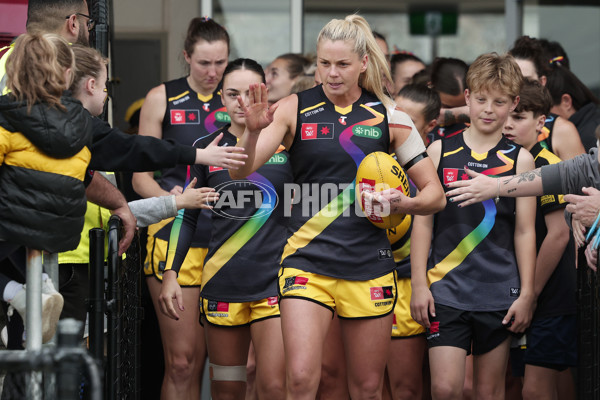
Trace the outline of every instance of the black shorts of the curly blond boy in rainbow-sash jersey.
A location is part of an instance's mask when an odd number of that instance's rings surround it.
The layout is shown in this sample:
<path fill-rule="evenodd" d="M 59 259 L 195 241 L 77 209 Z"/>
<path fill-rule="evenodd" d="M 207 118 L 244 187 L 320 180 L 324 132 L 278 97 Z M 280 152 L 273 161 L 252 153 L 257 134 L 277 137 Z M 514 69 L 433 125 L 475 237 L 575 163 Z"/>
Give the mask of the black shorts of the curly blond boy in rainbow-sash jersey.
<path fill-rule="evenodd" d="M 435 317 L 430 318 L 427 345 L 452 346 L 467 354 L 485 354 L 508 338 L 510 332 L 502 325 L 505 311 L 464 311 L 435 304 Z"/>

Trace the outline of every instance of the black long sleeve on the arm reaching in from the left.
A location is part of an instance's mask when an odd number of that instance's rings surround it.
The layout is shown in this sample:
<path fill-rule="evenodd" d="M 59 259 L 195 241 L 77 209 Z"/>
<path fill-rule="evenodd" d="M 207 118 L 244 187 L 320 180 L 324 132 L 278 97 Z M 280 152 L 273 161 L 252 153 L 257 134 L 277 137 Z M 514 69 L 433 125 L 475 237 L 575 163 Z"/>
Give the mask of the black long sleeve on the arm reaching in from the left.
<path fill-rule="evenodd" d="M 196 149 L 151 136 L 128 135 L 99 118 L 93 118 L 90 169 L 99 171 L 146 172 L 190 165 Z"/>

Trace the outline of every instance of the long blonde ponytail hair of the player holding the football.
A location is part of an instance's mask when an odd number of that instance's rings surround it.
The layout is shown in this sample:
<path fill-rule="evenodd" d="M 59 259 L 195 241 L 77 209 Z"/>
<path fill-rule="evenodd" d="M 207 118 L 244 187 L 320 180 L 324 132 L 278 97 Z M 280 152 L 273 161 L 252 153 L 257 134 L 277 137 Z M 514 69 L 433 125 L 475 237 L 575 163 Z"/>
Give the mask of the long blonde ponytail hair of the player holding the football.
<path fill-rule="evenodd" d="M 367 20 L 357 14 L 348 15 L 344 19 L 332 19 L 321 29 L 317 46 L 323 40 L 351 42 L 353 51 L 359 58 L 366 55 L 367 70 L 361 74 L 359 85 L 374 93 L 386 108 L 394 106 L 393 100 L 383 91 L 383 77 L 392 82 L 390 69 Z"/>

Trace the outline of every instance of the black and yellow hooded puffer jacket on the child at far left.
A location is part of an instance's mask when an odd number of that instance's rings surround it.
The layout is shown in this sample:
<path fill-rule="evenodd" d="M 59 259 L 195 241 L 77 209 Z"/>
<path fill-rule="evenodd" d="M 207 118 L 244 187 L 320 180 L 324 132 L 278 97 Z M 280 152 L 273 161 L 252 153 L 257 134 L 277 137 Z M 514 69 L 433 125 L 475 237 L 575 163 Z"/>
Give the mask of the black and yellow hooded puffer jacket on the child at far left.
<path fill-rule="evenodd" d="M 0 240 L 52 253 L 79 243 L 92 124 L 67 94 L 66 112 L 0 97 Z"/>

